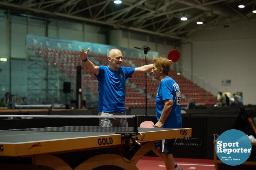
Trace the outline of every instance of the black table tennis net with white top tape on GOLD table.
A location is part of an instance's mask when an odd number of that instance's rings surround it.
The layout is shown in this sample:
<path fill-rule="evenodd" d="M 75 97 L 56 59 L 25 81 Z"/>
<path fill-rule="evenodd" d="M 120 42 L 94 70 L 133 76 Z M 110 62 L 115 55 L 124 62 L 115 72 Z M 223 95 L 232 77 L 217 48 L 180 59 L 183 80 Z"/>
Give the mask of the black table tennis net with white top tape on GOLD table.
<path fill-rule="evenodd" d="M 99 126 L 99 119 L 113 121 L 126 118 L 128 127 L 118 124 Z M 21 130 L 41 132 L 137 132 L 136 116 L 37 116 L 0 115 L 0 130 Z"/>

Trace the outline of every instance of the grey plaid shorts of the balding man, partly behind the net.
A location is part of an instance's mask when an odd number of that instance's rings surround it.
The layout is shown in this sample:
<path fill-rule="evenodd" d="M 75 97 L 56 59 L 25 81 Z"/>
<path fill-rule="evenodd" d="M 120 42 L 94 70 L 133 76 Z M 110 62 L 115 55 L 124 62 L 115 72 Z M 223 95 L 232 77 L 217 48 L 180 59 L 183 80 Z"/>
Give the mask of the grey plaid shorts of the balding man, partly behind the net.
<path fill-rule="evenodd" d="M 103 127 L 128 127 L 127 118 L 111 118 L 111 116 L 126 116 L 120 112 L 98 112 L 99 116 L 110 116 L 110 118 L 99 118 L 99 124 Z"/>

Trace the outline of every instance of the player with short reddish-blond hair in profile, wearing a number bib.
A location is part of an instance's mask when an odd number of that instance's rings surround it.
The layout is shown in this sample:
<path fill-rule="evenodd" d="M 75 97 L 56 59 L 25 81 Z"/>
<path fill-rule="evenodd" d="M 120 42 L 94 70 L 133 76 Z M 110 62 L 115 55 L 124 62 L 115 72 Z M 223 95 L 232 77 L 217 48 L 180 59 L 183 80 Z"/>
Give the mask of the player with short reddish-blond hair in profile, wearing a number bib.
<path fill-rule="evenodd" d="M 159 57 L 153 59 L 152 74 L 154 79 L 159 80 L 160 85 L 156 92 L 156 118 L 154 127 L 181 128 L 180 89 L 178 84 L 168 76 L 170 70 L 169 61 Z M 155 143 L 153 150 L 165 162 L 166 169 L 181 170 L 175 164 L 172 155 L 172 146 L 175 139 L 160 140 Z"/>

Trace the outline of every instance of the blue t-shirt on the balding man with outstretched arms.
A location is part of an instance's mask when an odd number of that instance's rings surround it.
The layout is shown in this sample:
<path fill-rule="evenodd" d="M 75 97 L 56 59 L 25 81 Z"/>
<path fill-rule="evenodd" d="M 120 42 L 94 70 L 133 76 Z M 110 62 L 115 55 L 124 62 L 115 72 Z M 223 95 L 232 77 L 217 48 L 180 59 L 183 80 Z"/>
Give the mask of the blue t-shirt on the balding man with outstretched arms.
<path fill-rule="evenodd" d="M 109 66 L 99 66 L 99 74 L 95 76 L 99 81 L 98 112 L 125 113 L 125 82 L 132 77 L 135 68 L 120 67 L 113 71 Z"/>

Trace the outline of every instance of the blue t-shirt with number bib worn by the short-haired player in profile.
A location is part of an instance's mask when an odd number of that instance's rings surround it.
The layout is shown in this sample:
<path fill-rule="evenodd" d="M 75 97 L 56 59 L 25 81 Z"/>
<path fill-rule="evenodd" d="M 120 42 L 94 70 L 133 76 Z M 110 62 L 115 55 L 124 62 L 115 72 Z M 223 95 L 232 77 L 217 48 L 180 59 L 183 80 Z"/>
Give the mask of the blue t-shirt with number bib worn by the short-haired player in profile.
<path fill-rule="evenodd" d="M 181 107 L 180 107 L 180 90 L 178 84 L 171 78 L 165 77 L 160 82 L 156 93 L 156 118 L 159 121 L 164 110 L 164 100 L 173 99 L 173 107 L 166 118 L 163 127 L 181 128 Z"/>

